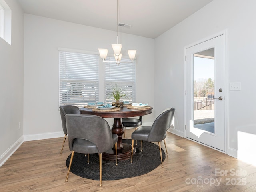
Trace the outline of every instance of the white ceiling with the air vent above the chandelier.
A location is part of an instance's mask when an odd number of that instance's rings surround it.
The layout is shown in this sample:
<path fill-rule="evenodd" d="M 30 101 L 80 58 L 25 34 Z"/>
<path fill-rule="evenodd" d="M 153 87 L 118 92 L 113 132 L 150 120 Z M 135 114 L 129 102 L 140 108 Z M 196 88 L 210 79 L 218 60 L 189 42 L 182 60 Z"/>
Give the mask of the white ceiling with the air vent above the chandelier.
<path fill-rule="evenodd" d="M 25 13 L 117 30 L 117 0 L 17 0 Z M 156 38 L 213 0 L 119 0 L 119 32 Z"/>

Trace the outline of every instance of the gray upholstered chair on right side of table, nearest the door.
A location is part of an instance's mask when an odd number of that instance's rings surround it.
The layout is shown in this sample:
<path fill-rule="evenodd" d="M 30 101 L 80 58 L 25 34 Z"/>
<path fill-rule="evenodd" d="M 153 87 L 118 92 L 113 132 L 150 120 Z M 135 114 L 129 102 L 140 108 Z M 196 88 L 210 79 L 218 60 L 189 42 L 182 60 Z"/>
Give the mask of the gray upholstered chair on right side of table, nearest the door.
<path fill-rule="evenodd" d="M 152 126 L 142 126 L 139 129 L 135 130 L 132 133 L 132 153 L 134 140 L 141 140 L 141 152 L 142 152 L 142 141 L 148 142 L 158 142 L 159 150 L 160 150 L 160 158 L 161 165 L 163 167 L 163 159 L 162 159 L 162 150 L 161 150 L 161 141 L 166 138 L 166 132 L 170 128 L 172 124 L 172 119 L 174 117 L 175 108 L 170 108 L 162 112 Z M 132 157 L 131 157 L 132 163 Z"/>

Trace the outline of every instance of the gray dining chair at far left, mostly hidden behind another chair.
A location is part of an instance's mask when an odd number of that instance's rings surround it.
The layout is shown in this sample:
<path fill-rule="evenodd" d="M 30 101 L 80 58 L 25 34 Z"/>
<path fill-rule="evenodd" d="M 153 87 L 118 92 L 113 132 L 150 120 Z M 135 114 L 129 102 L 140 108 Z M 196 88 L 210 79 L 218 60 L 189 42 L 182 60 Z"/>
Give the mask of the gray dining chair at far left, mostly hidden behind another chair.
<path fill-rule="evenodd" d="M 79 107 L 74 106 L 74 105 L 62 105 L 62 106 L 60 106 L 60 117 L 61 117 L 61 122 L 62 122 L 62 129 L 63 129 L 63 132 L 65 134 L 60 154 L 62 154 L 63 147 L 64 147 L 64 144 L 65 144 L 65 140 L 66 140 L 66 137 L 67 137 L 67 134 L 68 134 L 67 133 L 67 126 L 66 126 L 66 118 L 65 118 L 66 114 L 80 114 Z"/>

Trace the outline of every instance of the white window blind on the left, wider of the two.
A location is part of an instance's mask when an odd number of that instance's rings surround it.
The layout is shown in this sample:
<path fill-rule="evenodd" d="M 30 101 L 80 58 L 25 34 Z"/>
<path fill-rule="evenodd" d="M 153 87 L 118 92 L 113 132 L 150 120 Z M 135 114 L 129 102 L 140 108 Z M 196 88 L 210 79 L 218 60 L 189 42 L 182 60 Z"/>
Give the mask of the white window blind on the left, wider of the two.
<path fill-rule="evenodd" d="M 84 106 L 99 100 L 98 55 L 59 52 L 59 105 Z"/>

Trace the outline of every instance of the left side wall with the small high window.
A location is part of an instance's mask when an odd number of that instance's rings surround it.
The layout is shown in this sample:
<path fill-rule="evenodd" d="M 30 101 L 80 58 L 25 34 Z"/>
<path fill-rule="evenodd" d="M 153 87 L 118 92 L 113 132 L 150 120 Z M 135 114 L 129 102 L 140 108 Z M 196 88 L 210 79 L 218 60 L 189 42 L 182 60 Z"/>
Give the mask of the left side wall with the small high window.
<path fill-rule="evenodd" d="M 23 142 L 24 17 L 16 1 L 5 2 L 12 10 L 12 44 L 0 38 L 0 165 Z"/>

